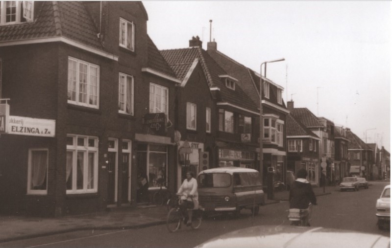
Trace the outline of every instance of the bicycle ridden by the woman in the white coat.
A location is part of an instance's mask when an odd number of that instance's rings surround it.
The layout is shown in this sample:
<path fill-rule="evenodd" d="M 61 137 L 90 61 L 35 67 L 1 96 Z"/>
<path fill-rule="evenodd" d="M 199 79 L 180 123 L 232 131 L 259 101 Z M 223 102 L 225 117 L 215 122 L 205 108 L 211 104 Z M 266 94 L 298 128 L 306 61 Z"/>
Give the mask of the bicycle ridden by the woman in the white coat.
<path fill-rule="evenodd" d="M 187 216 L 183 216 L 182 211 L 180 210 L 180 199 L 177 195 L 177 202 L 176 204 L 170 209 L 168 213 L 168 217 L 166 219 L 166 227 L 170 232 L 175 232 L 181 228 L 181 223 L 185 220 Z M 192 210 L 192 229 L 197 229 L 201 225 L 202 214 L 200 209 Z"/>

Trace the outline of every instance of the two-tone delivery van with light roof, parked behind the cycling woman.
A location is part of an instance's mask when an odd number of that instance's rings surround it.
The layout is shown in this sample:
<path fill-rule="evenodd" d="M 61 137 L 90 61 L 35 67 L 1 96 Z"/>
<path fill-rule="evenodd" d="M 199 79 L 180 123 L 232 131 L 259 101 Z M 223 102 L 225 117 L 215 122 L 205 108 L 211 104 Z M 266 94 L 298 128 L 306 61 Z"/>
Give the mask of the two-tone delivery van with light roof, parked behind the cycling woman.
<path fill-rule="evenodd" d="M 254 215 L 265 204 L 258 171 L 240 167 L 219 167 L 201 171 L 198 180 L 200 208 L 206 212 L 232 212 L 249 209 Z"/>

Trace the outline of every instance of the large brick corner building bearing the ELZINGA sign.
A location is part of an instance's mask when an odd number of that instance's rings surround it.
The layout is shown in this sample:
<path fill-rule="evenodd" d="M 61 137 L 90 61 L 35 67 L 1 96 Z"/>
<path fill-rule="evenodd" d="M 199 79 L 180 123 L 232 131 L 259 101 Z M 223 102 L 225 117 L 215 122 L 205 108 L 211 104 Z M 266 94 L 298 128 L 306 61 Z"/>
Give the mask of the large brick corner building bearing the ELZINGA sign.
<path fill-rule="evenodd" d="M 141 2 L 0 7 L 0 98 L 8 130 L 30 132 L 0 136 L 1 213 L 101 211 L 138 200 L 137 174 L 150 190 L 174 177 L 180 81 L 147 35 Z M 45 123 L 55 132 L 31 133 Z"/>

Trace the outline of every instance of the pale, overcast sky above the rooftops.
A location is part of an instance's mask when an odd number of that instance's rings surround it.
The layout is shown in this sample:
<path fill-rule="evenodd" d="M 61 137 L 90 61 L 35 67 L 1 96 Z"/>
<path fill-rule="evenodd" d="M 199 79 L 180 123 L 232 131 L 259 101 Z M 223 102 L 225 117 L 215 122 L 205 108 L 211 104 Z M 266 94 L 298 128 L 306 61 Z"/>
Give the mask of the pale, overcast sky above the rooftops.
<path fill-rule="evenodd" d="M 348 127 L 391 151 L 391 2 L 143 1 L 158 49 L 198 35 L 285 88 L 295 108 Z M 264 69 L 263 69 L 264 75 Z"/>

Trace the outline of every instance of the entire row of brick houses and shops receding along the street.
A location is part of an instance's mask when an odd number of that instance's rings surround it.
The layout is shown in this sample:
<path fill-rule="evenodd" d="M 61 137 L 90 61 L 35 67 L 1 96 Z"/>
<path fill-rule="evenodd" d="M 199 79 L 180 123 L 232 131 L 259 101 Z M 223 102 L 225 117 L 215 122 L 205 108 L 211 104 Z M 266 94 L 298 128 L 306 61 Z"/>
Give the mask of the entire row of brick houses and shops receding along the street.
<path fill-rule="evenodd" d="M 218 166 L 283 183 L 306 168 L 315 186 L 354 172 L 348 129 L 286 107 L 281 86 L 215 41 L 159 50 L 142 2 L 0 4 L 0 213 L 143 203 Z"/>

